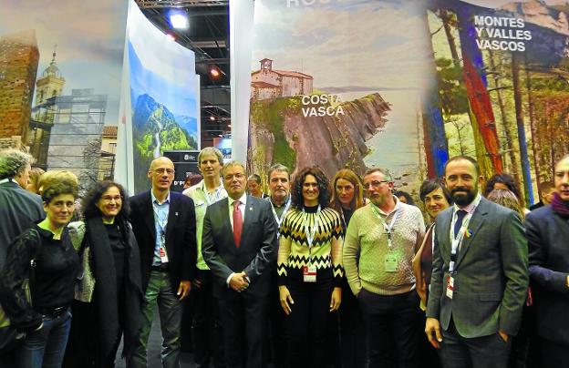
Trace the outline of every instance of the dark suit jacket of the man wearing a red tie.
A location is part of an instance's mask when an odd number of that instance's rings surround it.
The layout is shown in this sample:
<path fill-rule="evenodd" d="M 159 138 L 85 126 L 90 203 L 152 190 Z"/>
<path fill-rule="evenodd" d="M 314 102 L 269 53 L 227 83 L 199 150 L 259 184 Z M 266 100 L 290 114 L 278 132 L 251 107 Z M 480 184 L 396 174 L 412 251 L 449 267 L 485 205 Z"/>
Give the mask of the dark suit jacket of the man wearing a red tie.
<path fill-rule="evenodd" d="M 266 296 L 271 288 L 271 269 L 276 258 L 276 222 L 271 203 L 266 199 L 247 196 L 243 216 L 241 246 L 235 246 L 229 220 L 229 199 L 222 199 L 205 212 L 202 232 L 202 255 L 215 279 L 216 298 L 238 297 L 227 286 L 233 272 L 244 271 L 251 283 L 245 295 Z"/>

